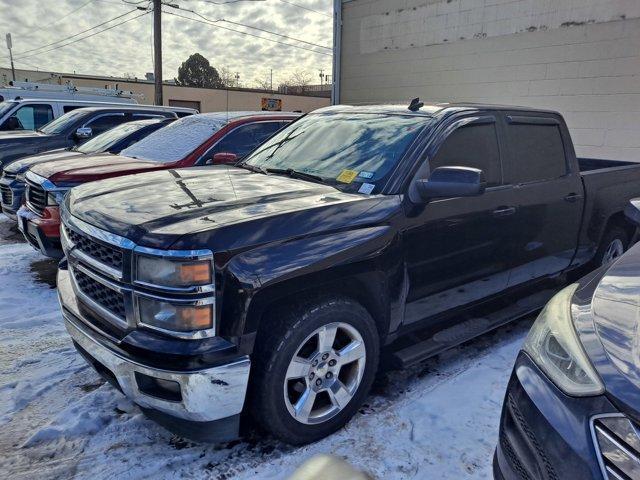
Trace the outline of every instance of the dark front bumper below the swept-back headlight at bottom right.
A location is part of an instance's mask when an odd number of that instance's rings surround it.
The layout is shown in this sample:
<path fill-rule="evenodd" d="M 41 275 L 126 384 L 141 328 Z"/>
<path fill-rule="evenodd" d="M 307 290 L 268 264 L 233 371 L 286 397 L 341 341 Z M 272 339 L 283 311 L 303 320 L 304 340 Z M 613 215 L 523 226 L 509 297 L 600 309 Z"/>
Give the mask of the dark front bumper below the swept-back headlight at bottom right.
<path fill-rule="evenodd" d="M 494 477 L 602 480 L 591 422 L 616 413 L 604 395 L 565 395 L 521 352 L 503 404 Z"/>

